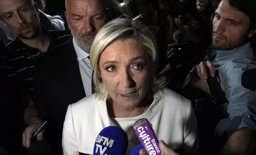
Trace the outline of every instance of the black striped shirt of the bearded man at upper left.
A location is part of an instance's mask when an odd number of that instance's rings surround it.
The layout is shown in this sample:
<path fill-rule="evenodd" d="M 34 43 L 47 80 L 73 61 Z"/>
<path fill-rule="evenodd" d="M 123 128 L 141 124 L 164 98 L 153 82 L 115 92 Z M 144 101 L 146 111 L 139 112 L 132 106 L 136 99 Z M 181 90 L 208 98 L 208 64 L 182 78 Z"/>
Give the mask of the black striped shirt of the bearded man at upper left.
<path fill-rule="evenodd" d="M 66 42 L 71 37 L 66 31 L 47 31 L 47 33 L 50 37 L 48 49 Z M 35 98 L 34 64 L 42 52 L 25 45 L 18 38 L 10 42 L 6 48 L 6 52 L 2 52 L 0 57 L 1 74 L 28 89 Z"/>

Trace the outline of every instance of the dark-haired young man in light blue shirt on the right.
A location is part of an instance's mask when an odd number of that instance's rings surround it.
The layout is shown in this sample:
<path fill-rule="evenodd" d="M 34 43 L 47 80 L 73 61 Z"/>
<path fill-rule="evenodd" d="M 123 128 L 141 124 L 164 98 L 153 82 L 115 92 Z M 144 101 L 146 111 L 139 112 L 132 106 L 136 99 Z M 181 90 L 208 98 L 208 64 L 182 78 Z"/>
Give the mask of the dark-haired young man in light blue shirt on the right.
<path fill-rule="evenodd" d="M 215 128 L 217 141 L 211 143 L 211 152 L 220 149 L 221 155 L 256 153 L 256 92 L 241 85 L 242 73 L 256 68 L 250 45 L 256 32 L 255 8 L 255 0 L 221 0 L 213 19 L 212 45 L 207 51 L 208 56 L 190 72 L 190 80 L 186 82 L 192 88 L 190 92 L 197 89 L 213 95 L 210 92 L 213 90 L 208 89 L 211 83 L 207 85 L 206 79 L 216 75 L 220 81 L 227 101 L 211 106 L 216 109 L 204 111 L 211 113 L 209 117 L 204 115 L 204 118 L 208 124 L 213 123 L 210 118 L 219 118 Z M 204 107 L 207 105 L 204 103 Z M 209 153 L 209 149 L 206 152 Z"/>

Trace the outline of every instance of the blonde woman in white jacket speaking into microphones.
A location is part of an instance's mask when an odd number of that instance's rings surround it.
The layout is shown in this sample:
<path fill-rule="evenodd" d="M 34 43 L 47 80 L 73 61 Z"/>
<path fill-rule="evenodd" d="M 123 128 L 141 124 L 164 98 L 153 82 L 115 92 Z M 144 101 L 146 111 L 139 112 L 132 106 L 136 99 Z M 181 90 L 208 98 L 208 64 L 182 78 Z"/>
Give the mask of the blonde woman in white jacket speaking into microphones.
<path fill-rule="evenodd" d="M 190 100 L 163 87 L 156 77 L 158 51 L 153 34 L 132 19 L 107 23 L 91 47 L 95 94 L 68 107 L 64 155 L 93 154 L 99 132 L 108 126 L 128 136 L 128 155 L 140 141 L 132 125 L 147 118 L 159 140 L 184 154 L 197 153 L 197 123 Z"/>

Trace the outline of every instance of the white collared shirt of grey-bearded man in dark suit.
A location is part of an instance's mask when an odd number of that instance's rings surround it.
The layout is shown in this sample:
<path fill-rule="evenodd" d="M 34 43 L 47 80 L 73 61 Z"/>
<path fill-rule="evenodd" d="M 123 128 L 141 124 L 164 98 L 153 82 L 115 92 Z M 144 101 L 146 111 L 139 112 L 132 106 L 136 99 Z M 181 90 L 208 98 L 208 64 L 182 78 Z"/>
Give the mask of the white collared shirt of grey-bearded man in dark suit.
<path fill-rule="evenodd" d="M 91 95 L 91 77 L 93 74 L 93 68 L 91 67 L 90 59 L 88 58 L 90 56 L 89 53 L 83 51 L 76 41 L 73 38 L 73 44 L 76 51 L 80 74 L 83 81 L 83 88 L 85 91 L 85 95 L 89 96 Z"/>

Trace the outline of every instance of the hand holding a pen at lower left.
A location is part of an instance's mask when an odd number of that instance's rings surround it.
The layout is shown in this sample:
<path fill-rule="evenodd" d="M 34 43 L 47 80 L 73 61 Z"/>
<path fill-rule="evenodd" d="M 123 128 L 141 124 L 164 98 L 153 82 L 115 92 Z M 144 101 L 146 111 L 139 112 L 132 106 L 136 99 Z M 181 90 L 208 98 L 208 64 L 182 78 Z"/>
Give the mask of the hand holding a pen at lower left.
<path fill-rule="evenodd" d="M 25 131 L 22 133 L 22 145 L 24 147 L 29 148 L 31 144 L 32 135 L 37 131 L 41 124 L 42 123 L 33 123 L 29 125 L 29 127 L 27 127 Z M 43 132 L 44 131 L 37 134 L 37 140 L 43 140 Z"/>

